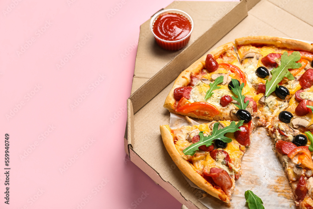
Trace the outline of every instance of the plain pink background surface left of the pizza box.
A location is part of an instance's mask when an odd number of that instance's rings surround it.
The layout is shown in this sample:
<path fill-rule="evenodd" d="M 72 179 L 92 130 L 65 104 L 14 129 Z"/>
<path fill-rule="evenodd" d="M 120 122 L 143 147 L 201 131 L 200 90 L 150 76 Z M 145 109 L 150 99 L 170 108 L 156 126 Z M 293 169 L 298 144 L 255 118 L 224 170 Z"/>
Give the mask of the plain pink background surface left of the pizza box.
<path fill-rule="evenodd" d="M 171 2 L 0 2 L 0 208 L 180 208 L 123 141 L 139 26 Z"/>

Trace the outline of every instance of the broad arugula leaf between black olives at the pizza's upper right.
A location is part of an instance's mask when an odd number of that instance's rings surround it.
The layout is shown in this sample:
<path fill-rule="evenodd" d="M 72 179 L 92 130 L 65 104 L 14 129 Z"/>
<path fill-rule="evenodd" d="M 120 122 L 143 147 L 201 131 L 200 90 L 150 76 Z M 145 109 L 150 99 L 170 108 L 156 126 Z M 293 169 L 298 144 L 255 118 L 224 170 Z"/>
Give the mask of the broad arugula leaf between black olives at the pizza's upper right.
<path fill-rule="evenodd" d="M 297 63 L 301 59 L 300 52 L 294 51 L 288 56 L 288 52 L 284 52 L 281 55 L 280 65 L 271 71 L 272 79 L 268 81 L 266 79 L 266 91 L 265 97 L 268 97 L 273 91 L 275 91 L 278 83 L 283 80 L 284 77 L 289 80 L 294 80 L 295 77 L 288 71 L 288 69 L 297 69 L 301 67 L 301 63 Z"/>

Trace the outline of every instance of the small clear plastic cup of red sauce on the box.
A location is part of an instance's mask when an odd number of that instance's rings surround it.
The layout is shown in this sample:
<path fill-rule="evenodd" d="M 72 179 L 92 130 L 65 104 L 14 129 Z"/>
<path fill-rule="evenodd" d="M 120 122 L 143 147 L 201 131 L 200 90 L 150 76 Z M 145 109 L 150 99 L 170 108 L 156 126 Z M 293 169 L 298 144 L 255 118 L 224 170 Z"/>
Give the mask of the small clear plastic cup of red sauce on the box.
<path fill-rule="evenodd" d="M 156 22 L 156 20 L 159 18 L 159 17 L 162 17 L 164 15 L 177 15 L 178 17 L 181 17 L 183 16 L 183 19 L 187 19 L 190 24 L 191 24 L 191 29 L 189 31 L 189 33 L 187 35 L 185 35 L 184 37 L 179 37 L 179 39 L 177 40 L 170 40 L 170 39 L 175 39 L 177 37 L 159 37 L 157 36 L 155 33 L 154 33 L 154 24 Z M 176 32 L 177 31 L 181 31 L 182 29 L 180 28 L 180 26 L 178 25 L 177 27 L 177 21 L 175 20 L 176 23 L 174 22 L 171 22 L 171 21 L 167 21 L 167 23 L 163 24 L 165 26 L 167 26 L 166 24 L 170 23 L 170 24 L 173 24 L 173 25 L 170 25 L 169 27 L 171 27 L 172 29 L 174 29 Z M 162 25 L 162 27 L 163 27 Z M 185 13 L 184 11 L 182 10 L 179 10 L 179 9 L 164 9 L 158 13 L 156 13 L 155 15 L 153 15 L 153 17 L 151 18 L 151 21 L 150 21 L 150 30 L 152 32 L 152 34 L 154 35 L 154 38 L 156 40 L 156 43 L 161 46 L 163 49 L 166 49 L 166 50 L 180 50 L 182 49 L 184 46 L 187 45 L 188 41 L 190 40 L 190 35 L 192 33 L 192 30 L 193 30 L 193 21 L 192 21 L 192 18 L 187 14 Z M 164 28 L 164 31 L 165 32 L 168 32 L 166 31 L 167 29 Z M 172 32 L 172 31 L 169 31 L 169 32 Z M 186 34 L 183 33 L 183 34 Z M 159 34 L 160 35 L 160 34 Z M 162 36 L 162 34 L 160 35 Z M 173 34 L 173 36 L 175 36 L 175 34 Z M 168 40 L 166 40 L 168 39 Z"/>

